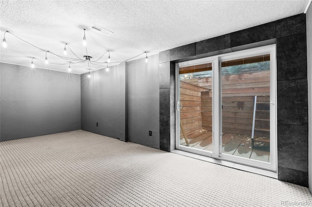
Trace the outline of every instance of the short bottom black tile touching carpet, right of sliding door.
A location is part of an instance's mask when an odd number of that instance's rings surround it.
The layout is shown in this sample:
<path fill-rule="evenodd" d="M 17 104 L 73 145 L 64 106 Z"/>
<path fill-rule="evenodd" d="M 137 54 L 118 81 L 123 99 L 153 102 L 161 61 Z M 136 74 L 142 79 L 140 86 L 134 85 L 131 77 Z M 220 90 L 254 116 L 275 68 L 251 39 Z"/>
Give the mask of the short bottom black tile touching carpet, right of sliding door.
<path fill-rule="evenodd" d="M 304 187 L 309 186 L 307 172 L 278 167 L 278 179 Z"/>

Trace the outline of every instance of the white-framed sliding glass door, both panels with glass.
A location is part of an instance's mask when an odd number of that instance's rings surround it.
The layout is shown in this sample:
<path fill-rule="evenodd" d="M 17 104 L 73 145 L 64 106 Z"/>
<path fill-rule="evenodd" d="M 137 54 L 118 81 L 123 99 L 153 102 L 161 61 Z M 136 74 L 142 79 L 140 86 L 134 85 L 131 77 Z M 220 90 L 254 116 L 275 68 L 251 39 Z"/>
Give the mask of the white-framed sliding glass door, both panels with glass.
<path fill-rule="evenodd" d="M 276 170 L 275 47 L 176 65 L 176 148 Z"/>

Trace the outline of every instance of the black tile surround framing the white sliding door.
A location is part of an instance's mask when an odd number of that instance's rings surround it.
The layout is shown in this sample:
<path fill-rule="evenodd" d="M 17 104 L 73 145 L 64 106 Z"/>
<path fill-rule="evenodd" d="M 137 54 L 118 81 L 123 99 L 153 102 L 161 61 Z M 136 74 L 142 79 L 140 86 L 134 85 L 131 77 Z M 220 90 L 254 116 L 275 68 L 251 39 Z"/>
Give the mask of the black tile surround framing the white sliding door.
<path fill-rule="evenodd" d="M 278 179 L 308 186 L 308 82 L 305 14 L 160 52 L 160 149 L 168 152 L 175 149 L 175 62 L 273 43 L 276 43 L 277 53 Z"/>

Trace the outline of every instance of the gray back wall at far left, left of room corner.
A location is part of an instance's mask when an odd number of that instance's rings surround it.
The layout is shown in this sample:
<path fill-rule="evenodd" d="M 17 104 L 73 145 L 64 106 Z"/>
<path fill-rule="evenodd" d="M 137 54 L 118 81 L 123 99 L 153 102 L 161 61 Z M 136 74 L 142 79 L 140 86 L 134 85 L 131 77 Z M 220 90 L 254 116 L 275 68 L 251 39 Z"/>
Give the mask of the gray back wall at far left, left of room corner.
<path fill-rule="evenodd" d="M 0 140 L 80 129 L 80 75 L 0 63 Z"/>

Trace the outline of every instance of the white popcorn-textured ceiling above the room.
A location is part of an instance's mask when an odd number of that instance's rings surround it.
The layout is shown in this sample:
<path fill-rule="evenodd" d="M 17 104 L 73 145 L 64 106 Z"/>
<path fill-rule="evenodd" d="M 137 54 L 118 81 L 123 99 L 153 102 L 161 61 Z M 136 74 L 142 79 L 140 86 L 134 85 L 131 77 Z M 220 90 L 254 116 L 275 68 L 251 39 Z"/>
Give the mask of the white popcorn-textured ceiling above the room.
<path fill-rule="evenodd" d="M 88 55 L 98 59 L 109 50 L 111 62 L 124 61 L 142 52 L 165 51 L 181 45 L 303 13 L 309 0 L 0 0 L 1 41 L 8 30 L 45 50 L 63 55 L 64 44 L 80 57 L 86 29 Z M 112 35 L 89 26 L 96 24 Z M 45 52 L 6 33 L 7 48 L 0 49 L 0 62 L 29 66 L 32 57 L 45 59 Z M 69 57 L 75 57 L 70 54 Z M 47 54 L 50 62 L 69 61 Z M 145 54 L 139 57 L 145 57 Z M 67 71 L 68 65 L 36 67 Z M 105 54 L 101 59 L 107 61 Z M 90 65 L 91 70 L 105 68 Z M 85 73 L 87 64 L 72 65 Z"/>

